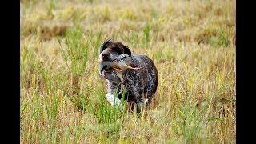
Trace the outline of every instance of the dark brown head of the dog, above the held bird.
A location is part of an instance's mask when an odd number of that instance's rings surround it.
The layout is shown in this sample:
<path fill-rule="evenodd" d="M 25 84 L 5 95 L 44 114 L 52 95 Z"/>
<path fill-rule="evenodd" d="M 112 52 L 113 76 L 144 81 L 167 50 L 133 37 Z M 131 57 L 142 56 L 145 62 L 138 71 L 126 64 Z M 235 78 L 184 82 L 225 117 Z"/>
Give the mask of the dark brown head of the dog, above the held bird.
<path fill-rule="evenodd" d="M 99 51 L 99 61 L 114 61 L 121 54 L 127 54 L 131 56 L 131 52 L 128 46 L 123 45 L 121 42 L 114 42 L 108 38 L 102 43 Z"/>

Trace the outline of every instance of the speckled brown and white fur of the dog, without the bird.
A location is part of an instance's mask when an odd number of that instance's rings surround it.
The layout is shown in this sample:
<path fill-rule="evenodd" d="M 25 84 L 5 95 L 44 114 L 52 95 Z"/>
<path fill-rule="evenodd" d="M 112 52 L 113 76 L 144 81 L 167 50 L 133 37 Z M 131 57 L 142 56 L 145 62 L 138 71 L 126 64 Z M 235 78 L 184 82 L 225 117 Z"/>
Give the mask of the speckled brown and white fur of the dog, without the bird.
<path fill-rule="evenodd" d="M 120 49 L 120 51 L 118 52 L 123 54 L 126 54 L 126 52 L 130 53 L 128 46 L 122 45 L 121 42 L 117 42 L 118 46 L 115 45 L 115 42 L 111 40 L 108 40 L 104 43 L 107 43 L 108 46 L 105 46 L 105 49 L 103 50 L 101 49 L 100 57 L 102 54 L 106 54 L 109 58 L 102 58 L 106 61 L 111 61 L 115 58 L 118 58 L 118 55 L 120 54 L 115 53 L 115 50 Z M 102 45 L 104 45 L 104 43 Z M 111 50 L 113 47 L 114 49 Z M 123 85 L 126 86 L 127 91 L 125 95 L 125 100 L 136 104 L 138 110 L 141 110 L 142 106 L 145 106 L 145 104 L 146 106 L 149 106 L 152 102 L 152 98 L 158 86 L 158 70 L 156 69 L 154 62 L 146 55 L 130 54 L 130 58 L 132 61 L 132 65 L 139 67 L 139 69 L 127 69 L 122 72 Z M 106 77 L 106 87 L 108 93 L 107 95 L 110 96 L 119 93 L 118 98 L 120 98 L 122 96 L 122 93 L 120 94 L 120 76 L 118 77 L 117 71 L 112 70 L 110 67 L 105 75 L 108 74 L 110 74 L 111 77 L 114 78 Z"/>

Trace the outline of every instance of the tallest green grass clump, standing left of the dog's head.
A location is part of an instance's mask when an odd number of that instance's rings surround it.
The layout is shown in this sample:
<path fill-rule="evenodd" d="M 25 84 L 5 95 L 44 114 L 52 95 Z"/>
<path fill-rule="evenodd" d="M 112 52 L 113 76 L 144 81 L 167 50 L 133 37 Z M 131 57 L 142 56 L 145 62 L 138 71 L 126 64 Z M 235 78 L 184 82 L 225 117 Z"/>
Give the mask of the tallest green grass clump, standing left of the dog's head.
<path fill-rule="evenodd" d="M 82 36 L 82 26 L 74 26 L 73 29 L 68 30 L 66 33 L 66 49 L 61 46 L 62 58 L 72 74 L 71 86 L 74 89 L 73 94 L 79 93 L 80 76 L 86 72 L 88 44 Z"/>

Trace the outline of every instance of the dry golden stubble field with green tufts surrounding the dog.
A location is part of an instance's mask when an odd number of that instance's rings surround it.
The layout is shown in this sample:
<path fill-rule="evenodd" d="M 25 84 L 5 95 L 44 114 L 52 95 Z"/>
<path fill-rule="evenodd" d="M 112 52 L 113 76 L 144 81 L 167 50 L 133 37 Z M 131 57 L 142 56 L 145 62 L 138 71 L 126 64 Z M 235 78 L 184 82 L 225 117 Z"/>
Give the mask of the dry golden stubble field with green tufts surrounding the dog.
<path fill-rule="evenodd" d="M 22 0 L 21 143 L 235 143 L 235 1 Z M 150 110 L 111 107 L 106 38 L 158 69 Z"/>

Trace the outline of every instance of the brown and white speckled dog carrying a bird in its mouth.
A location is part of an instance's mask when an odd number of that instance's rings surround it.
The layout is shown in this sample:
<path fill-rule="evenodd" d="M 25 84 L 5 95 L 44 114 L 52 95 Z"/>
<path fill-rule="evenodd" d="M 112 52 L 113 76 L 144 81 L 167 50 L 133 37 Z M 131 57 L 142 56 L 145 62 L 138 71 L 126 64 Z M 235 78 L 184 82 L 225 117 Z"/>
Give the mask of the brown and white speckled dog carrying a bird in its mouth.
<path fill-rule="evenodd" d="M 118 58 L 126 58 L 130 62 L 125 63 L 126 61 Z M 158 70 L 150 58 L 146 55 L 131 54 L 128 46 L 108 38 L 100 47 L 99 62 L 99 74 L 106 78 L 106 100 L 112 106 L 120 104 L 123 91 L 124 99 L 136 106 L 138 113 L 145 106 L 150 106 L 158 87 Z M 113 62 L 122 62 L 125 68 L 121 71 L 114 69 Z M 126 87 L 125 90 L 122 90 L 122 85 Z M 117 97 L 114 97 L 114 94 L 118 94 Z"/>

